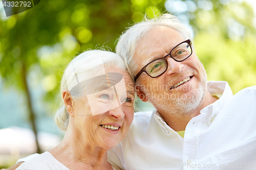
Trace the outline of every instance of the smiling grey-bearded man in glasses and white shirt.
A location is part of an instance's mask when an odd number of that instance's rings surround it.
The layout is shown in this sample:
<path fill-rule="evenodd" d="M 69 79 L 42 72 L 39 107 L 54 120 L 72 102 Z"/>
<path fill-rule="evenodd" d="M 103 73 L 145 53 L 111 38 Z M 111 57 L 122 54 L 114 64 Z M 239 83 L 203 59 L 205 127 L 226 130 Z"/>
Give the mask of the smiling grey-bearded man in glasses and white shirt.
<path fill-rule="evenodd" d="M 116 52 L 153 112 L 138 112 L 109 151 L 121 169 L 256 169 L 256 86 L 233 96 L 207 83 L 190 34 L 173 15 L 145 19 L 120 36 Z M 225 57 L 225 56 L 223 56 Z"/>

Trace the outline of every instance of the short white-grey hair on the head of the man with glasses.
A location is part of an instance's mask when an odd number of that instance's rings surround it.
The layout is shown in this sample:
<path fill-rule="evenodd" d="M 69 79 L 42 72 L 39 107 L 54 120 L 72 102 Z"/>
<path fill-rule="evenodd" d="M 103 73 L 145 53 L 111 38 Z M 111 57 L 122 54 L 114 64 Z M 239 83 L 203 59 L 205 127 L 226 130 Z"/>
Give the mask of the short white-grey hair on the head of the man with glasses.
<path fill-rule="evenodd" d="M 133 60 L 137 43 L 145 37 L 148 32 L 158 26 L 174 29 L 184 40 L 191 39 L 189 30 L 172 14 L 162 14 L 151 19 L 145 16 L 143 21 L 135 23 L 135 25 L 124 31 L 116 45 L 116 53 L 123 58 L 132 79 L 136 76 L 136 69 L 138 67 Z"/>

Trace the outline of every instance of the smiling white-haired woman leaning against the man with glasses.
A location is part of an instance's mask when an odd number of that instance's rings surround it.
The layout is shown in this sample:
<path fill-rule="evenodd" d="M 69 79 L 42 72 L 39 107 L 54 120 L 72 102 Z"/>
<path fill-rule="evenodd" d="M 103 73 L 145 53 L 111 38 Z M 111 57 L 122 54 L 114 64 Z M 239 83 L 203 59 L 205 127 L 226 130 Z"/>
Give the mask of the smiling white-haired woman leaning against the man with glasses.
<path fill-rule="evenodd" d="M 133 81 L 122 59 L 99 50 L 78 55 L 63 74 L 60 92 L 55 122 L 66 131 L 63 140 L 17 169 L 116 169 L 106 152 L 122 140 L 134 116 Z"/>

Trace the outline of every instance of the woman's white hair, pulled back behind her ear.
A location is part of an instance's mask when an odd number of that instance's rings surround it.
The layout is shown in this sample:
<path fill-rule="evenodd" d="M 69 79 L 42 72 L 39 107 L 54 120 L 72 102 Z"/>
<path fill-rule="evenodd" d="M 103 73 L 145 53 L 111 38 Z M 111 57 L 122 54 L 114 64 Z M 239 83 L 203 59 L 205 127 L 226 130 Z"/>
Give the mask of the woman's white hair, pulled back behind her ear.
<path fill-rule="evenodd" d="M 126 70 L 122 58 L 115 53 L 100 50 L 81 53 L 65 69 L 61 79 L 60 94 L 65 89 L 70 91 L 78 83 L 102 74 L 108 68 Z M 83 86 L 80 87 L 82 88 Z M 78 100 L 76 94 L 83 90 L 81 88 L 78 86 L 76 91 L 72 91 L 71 96 L 74 100 Z M 55 113 L 55 123 L 61 130 L 67 131 L 69 113 L 63 100 L 61 100 L 60 108 Z"/>

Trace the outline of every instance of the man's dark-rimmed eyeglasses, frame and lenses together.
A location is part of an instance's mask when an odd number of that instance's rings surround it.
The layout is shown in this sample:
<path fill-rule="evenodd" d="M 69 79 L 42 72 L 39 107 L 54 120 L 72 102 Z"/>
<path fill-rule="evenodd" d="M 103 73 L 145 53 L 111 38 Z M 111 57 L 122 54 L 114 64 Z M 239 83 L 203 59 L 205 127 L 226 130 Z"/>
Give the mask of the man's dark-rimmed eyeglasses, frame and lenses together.
<path fill-rule="evenodd" d="M 170 51 L 170 53 L 163 58 L 158 58 L 151 61 L 150 63 L 147 63 L 135 76 L 134 81 L 138 79 L 142 72 L 146 72 L 146 74 L 152 78 L 161 76 L 168 68 L 168 62 L 166 60 L 166 57 L 170 56 L 170 58 L 174 59 L 177 62 L 184 61 L 193 53 L 191 45 L 192 42 L 190 39 L 185 40 L 176 45 Z"/>

